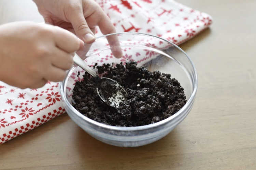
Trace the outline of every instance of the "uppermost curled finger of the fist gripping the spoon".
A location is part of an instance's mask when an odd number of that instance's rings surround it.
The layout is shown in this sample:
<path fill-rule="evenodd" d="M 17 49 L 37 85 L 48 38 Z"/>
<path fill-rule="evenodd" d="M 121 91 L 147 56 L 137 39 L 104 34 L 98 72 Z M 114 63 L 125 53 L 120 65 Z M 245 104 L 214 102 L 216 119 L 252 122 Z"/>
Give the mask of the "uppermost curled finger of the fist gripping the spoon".
<path fill-rule="evenodd" d="M 55 27 L 54 39 L 56 46 L 67 53 L 72 53 L 84 46 L 84 42 L 71 32 Z"/>

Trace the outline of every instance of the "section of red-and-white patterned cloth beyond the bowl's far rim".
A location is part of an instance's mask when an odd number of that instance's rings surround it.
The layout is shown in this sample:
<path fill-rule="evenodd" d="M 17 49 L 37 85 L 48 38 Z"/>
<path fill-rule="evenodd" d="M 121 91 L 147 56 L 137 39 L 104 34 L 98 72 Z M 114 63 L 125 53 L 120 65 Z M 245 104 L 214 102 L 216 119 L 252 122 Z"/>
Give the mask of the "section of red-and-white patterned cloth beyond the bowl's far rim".
<path fill-rule="evenodd" d="M 172 0 L 96 0 L 96 2 L 109 16 L 118 32 L 157 35 L 176 45 L 194 37 L 212 23 L 210 15 Z"/>

